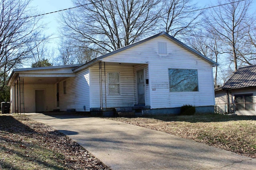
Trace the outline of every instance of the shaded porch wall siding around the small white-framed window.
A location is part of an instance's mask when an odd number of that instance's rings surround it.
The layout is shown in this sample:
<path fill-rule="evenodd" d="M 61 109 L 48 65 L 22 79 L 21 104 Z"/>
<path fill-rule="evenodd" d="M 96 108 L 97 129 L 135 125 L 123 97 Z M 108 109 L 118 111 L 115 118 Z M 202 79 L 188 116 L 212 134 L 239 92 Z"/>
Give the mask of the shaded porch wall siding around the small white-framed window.
<path fill-rule="evenodd" d="M 119 72 L 120 75 L 120 94 L 108 94 L 108 72 Z M 106 95 L 105 95 L 106 94 Z M 106 98 L 106 100 L 105 100 Z M 91 107 L 100 107 L 100 78 L 99 66 L 90 67 L 90 99 Z M 104 64 L 102 64 L 102 106 L 103 107 L 128 107 L 134 106 L 135 87 L 134 87 L 134 68 L 126 65 L 106 64 L 106 93 Z M 107 101 L 107 103 L 105 102 Z"/>

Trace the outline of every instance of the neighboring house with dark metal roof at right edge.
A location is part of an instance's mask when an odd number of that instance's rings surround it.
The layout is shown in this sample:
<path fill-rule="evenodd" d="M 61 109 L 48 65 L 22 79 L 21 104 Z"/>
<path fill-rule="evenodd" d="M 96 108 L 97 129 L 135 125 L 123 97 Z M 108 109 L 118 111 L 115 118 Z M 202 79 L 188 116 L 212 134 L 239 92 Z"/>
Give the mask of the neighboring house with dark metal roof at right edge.
<path fill-rule="evenodd" d="M 215 89 L 219 113 L 256 115 L 256 65 L 239 68 L 221 87 Z"/>

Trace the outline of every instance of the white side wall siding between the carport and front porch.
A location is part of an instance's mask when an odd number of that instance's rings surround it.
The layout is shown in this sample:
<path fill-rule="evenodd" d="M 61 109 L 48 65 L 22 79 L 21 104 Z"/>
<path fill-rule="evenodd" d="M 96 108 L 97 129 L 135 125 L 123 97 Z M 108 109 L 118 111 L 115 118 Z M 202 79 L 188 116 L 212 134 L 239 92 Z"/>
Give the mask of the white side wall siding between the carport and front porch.
<path fill-rule="evenodd" d="M 63 93 L 63 82 L 66 81 L 66 94 Z M 59 83 L 59 104 L 57 107 L 57 84 L 54 85 L 54 108 L 60 111 L 76 109 L 90 111 L 89 69 L 76 73 L 76 77 L 67 78 Z M 84 110 L 86 106 L 86 110 Z"/>

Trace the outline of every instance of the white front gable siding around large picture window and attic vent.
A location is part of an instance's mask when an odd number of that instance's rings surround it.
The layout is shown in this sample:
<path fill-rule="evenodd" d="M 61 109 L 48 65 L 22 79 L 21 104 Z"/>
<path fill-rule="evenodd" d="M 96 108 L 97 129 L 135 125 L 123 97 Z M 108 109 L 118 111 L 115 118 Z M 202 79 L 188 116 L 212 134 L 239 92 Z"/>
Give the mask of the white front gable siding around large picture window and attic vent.
<path fill-rule="evenodd" d="M 158 42 L 167 43 L 167 55 L 158 55 Z M 148 64 L 151 108 L 213 106 L 214 88 L 210 63 L 160 36 L 102 59 L 104 62 Z M 168 68 L 198 70 L 198 92 L 170 92 Z M 156 89 L 156 91 L 152 91 Z M 148 99 L 147 99 L 148 100 Z"/>

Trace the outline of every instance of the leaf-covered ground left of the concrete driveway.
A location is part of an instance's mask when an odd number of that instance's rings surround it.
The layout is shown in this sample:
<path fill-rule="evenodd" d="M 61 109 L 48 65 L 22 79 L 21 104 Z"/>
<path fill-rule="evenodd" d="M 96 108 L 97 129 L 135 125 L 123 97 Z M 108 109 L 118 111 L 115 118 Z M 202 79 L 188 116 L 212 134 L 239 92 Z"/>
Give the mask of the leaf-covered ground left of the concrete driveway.
<path fill-rule="evenodd" d="M 109 170 L 55 129 L 23 115 L 0 115 L 0 169 Z"/>

